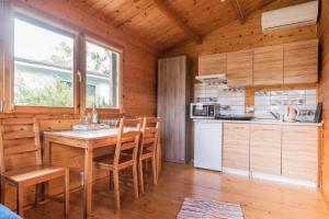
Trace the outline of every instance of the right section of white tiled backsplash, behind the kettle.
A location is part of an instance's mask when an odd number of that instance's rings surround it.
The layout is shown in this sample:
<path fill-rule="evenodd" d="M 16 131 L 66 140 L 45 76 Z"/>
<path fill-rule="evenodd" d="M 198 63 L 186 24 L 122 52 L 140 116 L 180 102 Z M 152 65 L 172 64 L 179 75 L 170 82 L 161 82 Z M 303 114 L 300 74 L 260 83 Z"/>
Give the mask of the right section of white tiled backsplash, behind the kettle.
<path fill-rule="evenodd" d="M 317 108 L 316 90 L 287 90 L 287 91 L 258 91 L 254 93 L 254 116 L 273 118 L 270 112 L 284 114 L 286 105 L 299 108 L 299 120 L 314 119 Z"/>

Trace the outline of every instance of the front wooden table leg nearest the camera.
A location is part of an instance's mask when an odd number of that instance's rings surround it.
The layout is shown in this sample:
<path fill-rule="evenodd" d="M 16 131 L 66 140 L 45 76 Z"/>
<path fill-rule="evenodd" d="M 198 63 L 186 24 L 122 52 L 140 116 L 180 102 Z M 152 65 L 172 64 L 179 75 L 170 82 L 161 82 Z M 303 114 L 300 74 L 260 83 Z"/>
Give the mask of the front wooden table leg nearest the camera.
<path fill-rule="evenodd" d="M 83 181 L 83 218 L 91 215 L 92 201 L 92 142 L 87 142 L 84 150 L 84 181 Z"/>

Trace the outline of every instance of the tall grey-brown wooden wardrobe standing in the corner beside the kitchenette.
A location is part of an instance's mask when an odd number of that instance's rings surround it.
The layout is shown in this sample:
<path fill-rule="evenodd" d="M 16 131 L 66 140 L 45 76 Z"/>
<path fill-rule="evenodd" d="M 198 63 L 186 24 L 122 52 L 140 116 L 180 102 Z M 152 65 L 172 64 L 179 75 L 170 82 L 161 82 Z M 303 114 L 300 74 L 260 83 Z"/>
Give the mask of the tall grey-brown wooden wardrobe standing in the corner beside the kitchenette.
<path fill-rule="evenodd" d="M 158 116 L 162 118 L 163 159 L 186 161 L 186 57 L 158 61 Z"/>

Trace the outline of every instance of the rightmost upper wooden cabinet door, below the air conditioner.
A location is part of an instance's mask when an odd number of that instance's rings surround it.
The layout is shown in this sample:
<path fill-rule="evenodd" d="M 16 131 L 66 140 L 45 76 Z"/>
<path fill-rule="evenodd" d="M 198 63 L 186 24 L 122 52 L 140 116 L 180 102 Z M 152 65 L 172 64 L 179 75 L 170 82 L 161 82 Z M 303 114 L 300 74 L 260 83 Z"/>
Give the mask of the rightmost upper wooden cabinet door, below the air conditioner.
<path fill-rule="evenodd" d="M 318 81 L 318 39 L 284 45 L 284 83 Z"/>

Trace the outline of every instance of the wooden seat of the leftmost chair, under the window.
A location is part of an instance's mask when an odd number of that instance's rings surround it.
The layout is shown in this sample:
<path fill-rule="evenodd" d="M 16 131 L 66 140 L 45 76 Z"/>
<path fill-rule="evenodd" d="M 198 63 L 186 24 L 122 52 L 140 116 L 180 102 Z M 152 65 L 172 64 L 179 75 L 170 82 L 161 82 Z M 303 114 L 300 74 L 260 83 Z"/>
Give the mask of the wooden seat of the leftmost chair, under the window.
<path fill-rule="evenodd" d="M 60 177 L 66 174 L 65 168 L 35 165 L 2 173 L 2 177 L 16 184 L 35 185 Z"/>

